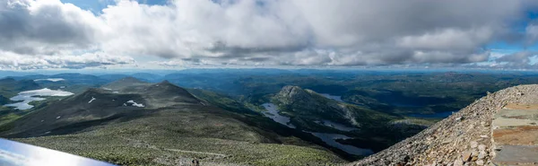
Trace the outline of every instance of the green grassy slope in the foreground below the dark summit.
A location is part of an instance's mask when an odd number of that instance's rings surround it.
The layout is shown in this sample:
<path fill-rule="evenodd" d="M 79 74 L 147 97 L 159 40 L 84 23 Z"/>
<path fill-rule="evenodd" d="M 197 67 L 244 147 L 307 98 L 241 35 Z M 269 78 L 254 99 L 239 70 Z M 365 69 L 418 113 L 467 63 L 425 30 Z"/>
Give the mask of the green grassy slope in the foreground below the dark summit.
<path fill-rule="evenodd" d="M 15 139 L 67 153 L 127 165 L 325 165 L 344 161 L 297 138 L 279 138 L 211 108 L 163 109 L 152 116 L 91 127 L 72 135 Z M 275 141 L 278 140 L 278 141 Z M 286 143 L 287 142 L 287 143 Z M 278 144 L 277 144 L 278 143 Z M 307 144 L 307 143 L 299 143 Z"/>

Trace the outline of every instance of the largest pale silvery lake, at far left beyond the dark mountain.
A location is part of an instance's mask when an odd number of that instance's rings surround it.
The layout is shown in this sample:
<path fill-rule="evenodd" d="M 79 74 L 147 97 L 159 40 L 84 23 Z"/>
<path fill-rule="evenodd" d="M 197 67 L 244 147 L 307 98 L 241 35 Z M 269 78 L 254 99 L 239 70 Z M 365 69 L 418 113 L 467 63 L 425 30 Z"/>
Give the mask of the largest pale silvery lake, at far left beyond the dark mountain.
<path fill-rule="evenodd" d="M 70 95 L 73 95 L 73 93 L 64 92 L 64 91 L 55 91 L 55 90 L 50 90 L 48 88 L 26 91 L 26 92 L 19 92 L 19 94 L 17 94 L 13 98 L 10 98 L 10 100 L 16 100 L 20 102 L 6 104 L 4 106 L 14 107 L 15 109 L 21 109 L 21 110 L 31 109 L 33 108 L 33 106 L 29 104 L 31 101 L 45 100 L 45 98 L 40 98 L 37 96 L 70 96 Z"/>

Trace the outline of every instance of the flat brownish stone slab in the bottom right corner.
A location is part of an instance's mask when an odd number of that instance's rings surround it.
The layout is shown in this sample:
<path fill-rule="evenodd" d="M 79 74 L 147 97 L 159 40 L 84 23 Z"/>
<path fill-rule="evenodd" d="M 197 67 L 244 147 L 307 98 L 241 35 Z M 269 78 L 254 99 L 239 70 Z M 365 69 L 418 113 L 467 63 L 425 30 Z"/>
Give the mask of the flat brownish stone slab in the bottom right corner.
<path fill-rule="evenodd" d="M 538 146 L 503 145 L 493 162 L 499 165 L 536 165 Z"/>

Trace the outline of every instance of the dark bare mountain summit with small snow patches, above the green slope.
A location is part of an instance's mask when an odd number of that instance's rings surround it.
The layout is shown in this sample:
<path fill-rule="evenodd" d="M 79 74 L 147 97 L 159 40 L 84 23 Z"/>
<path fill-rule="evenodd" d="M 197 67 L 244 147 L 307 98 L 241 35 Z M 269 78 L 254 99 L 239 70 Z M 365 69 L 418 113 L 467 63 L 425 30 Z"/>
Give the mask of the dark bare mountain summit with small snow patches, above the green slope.
<path fill-rule="evenodd" d="M 131 84 L 131 86 L 125 86 Z M 122 86 L 124 85 L 124 86 Z M 90 127 L 116 118 L 135 118 L 143 109 L 171 107 L 178 104 L 203 105 L 192 94 L 174 84 L 143 83 L 133 77 L 109 83 L 108 88 L 91 88 L 74 97 L 58 100 L 13 123 L 7 136 L 55 135 Z M 74 127 L 76 126 L 76 127 Z"/>

